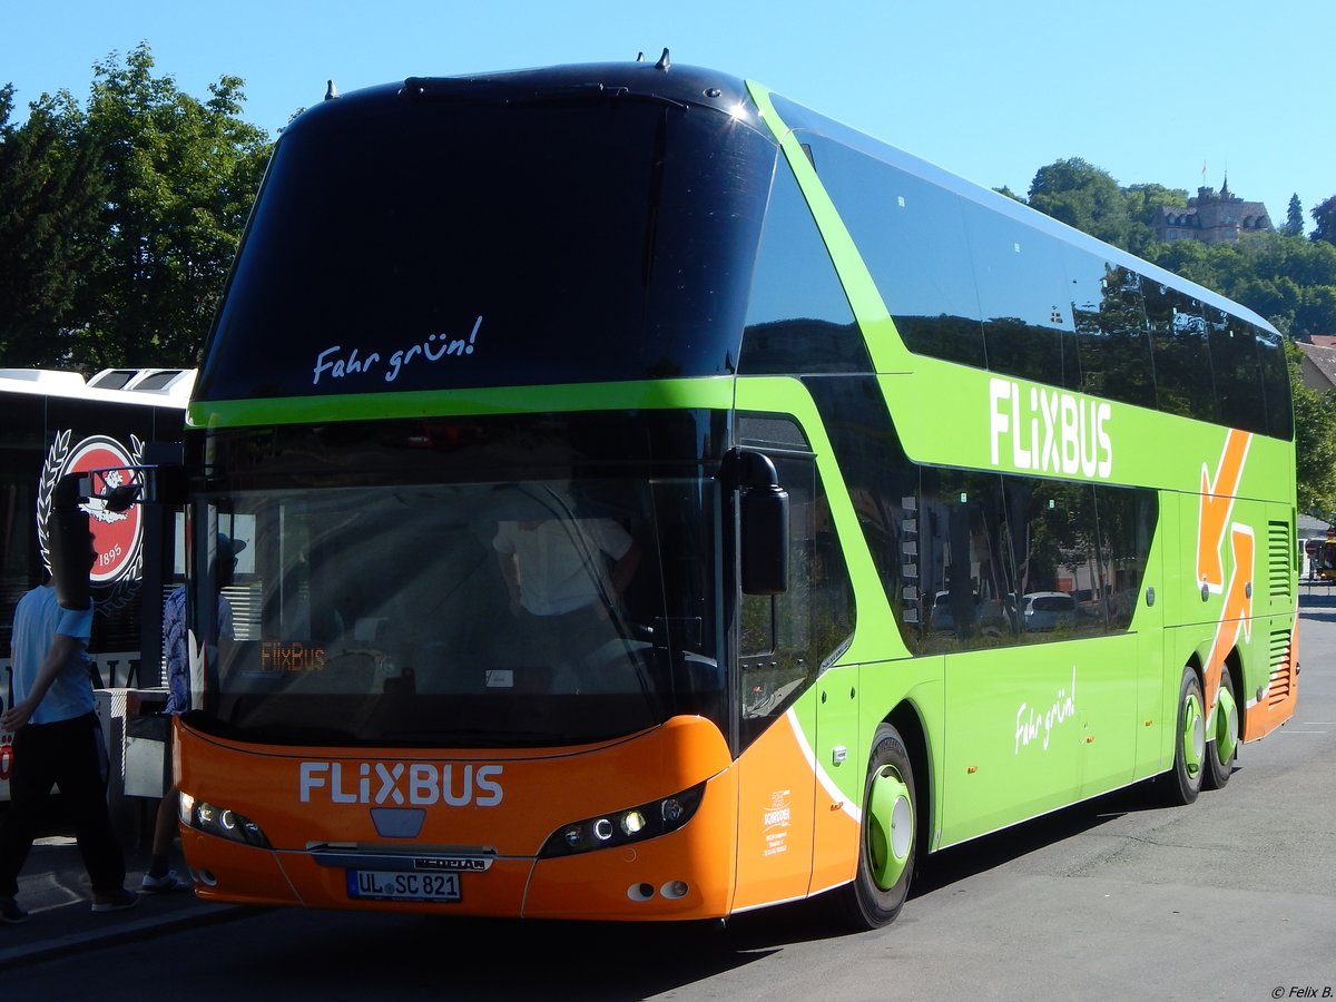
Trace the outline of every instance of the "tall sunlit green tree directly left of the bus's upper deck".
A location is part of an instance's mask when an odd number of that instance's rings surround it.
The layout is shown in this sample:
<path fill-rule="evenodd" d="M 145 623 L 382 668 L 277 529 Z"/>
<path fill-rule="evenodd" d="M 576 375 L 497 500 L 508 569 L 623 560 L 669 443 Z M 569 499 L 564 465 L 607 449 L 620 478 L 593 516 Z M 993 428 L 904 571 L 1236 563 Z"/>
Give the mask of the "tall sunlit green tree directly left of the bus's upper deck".
<path fill-rule="evenodd" d="M 239 77 L 199 102 L 152 68 L 147 44 L 94 67 L 88 131 L 108 196 L 71 343 L 84 369 L 196 362 L 269 158 L 265 131 L 239 118 Z"/>

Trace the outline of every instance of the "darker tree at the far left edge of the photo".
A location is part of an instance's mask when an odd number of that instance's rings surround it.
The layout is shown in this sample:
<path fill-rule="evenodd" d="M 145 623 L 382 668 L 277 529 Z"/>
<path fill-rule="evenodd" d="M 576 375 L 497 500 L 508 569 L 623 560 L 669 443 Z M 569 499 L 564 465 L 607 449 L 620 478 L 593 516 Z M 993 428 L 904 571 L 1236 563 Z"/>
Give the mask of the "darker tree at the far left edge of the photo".
<path fill-rule="evenodd" d="M 98 250 L 107 186 L 86 119 L 68 92 L 29 104 L 9 124 L 13 87 L 0 88 L 0 363 L 69 363 L 67 322 Z"/>

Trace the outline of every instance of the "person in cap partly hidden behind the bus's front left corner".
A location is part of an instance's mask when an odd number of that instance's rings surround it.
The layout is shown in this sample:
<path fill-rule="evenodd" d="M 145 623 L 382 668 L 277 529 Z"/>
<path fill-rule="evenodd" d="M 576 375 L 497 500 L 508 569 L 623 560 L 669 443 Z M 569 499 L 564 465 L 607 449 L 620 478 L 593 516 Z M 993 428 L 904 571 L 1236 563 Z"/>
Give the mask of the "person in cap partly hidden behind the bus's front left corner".
<path fill-rule="evenodd" d="M 223 595 L 223 589 L 232 582 L 232 574 L 236 572 L 236 554 L 243 549 L 246 549 L 243 540 L 232 540 L 223 533 L 218 534 L 218 568 L 214 584 L 218 588 L 218 637 L 220 640 L 231 640 L 234 636 L 232 605 Z M 184 587 L 176 588 L 163 607 L 163 647 L 167 651 L 167 705 L 163 713 L 172 717 L 190 709 L 190 644 L 186 627 Z M 168 727 L 168 749 L 172 740 L 172 728 Z M 139 884 L 139 890 L 144 894 L 188 891 L 194 887 L 187 878 L 168 868 L 171 843 L 176 838 L 179 826 L 176 802 L 176 787 L 172 786 L 163 795 L 162 803 L 158 804 L 152 856 L 148 862 L 148 871 Z"/>

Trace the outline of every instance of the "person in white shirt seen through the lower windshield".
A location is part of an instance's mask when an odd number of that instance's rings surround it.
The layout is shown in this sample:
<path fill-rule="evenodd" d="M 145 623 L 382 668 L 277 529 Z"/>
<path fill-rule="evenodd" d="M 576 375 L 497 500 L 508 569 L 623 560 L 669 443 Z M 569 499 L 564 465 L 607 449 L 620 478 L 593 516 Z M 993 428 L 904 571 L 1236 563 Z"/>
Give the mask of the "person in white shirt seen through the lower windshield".
<path fill-rule="evenodd" d="M 611 636 L 609 620 L 640 564 L 613 518 L 501 521 L 492 540 L 522 633 L 552 644 L 566 667 Z"/>

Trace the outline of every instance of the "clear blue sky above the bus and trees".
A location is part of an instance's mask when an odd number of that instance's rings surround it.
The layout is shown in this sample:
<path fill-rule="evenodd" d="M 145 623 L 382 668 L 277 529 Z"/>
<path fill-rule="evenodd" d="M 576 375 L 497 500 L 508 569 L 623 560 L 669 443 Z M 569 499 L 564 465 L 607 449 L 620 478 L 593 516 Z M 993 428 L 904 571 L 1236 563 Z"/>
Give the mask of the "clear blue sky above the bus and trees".
<path fill-rule="evenodd" d="M 246 80 L 273 136 L 299 107 L 413 75 L 657 57 L 760 80 L 970 180 L 1023 195 L 1082 156 L 1120 184 L 1229 186 L 1284 223 L 1336 195 L 1331 0 L 4 0 L 0 83 L 80 102 L 140 41 L 207 98 Z"/>

